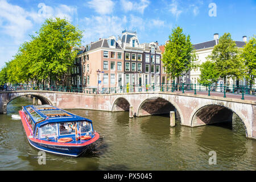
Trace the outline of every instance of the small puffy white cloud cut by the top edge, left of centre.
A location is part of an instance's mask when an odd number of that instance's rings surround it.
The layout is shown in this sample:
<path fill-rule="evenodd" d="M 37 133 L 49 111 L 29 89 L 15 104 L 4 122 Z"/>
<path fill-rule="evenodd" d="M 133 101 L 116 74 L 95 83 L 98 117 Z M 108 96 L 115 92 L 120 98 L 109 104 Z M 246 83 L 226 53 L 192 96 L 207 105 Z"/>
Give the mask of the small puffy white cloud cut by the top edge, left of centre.
<path fill-rule="evenodd" d="M 111 0 L 92 0 L 88 2 L 90 8 L 98 14 L 111 14 L 114 8 L 114 2 Z"/>

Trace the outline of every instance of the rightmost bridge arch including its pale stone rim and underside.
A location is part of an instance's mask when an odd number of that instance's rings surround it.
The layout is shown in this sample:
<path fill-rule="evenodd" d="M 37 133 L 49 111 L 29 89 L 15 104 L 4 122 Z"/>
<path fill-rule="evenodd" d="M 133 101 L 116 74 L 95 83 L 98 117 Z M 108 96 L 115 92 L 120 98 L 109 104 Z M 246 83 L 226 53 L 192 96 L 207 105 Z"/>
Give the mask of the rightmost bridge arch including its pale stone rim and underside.
<path fill-rule="evenodd" d="M 208 104 L 196 107 L 190 117 L 191 126 L 202 126 L 220 122 L 232 122 L 233 113 L 241 119 L 245 127 L 246 137 L 250 135 L 250 123 L 238 110 L 221 104 Z M 249 132 L 249 133 L 248 133 Z M 249 134 L 249 135 L 248 135 Z"/>

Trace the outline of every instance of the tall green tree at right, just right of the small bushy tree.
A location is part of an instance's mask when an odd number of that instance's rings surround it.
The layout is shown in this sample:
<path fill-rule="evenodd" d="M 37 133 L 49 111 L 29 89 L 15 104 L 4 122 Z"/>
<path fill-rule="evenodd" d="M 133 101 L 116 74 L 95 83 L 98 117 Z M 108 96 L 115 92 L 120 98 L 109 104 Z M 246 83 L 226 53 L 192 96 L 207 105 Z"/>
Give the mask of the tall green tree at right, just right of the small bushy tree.
<path fill-rule="evenodd" d="M 216 70 L 220 77 L 224 78 L 224 84 L 228 78 L 243 77 L 243 64 L 238 53 L 236 42 L 232 40 L 230 33 L 225 33 L 214 46 L 212 54 L 208 56 L 208 59 L 216 64 Z"/>

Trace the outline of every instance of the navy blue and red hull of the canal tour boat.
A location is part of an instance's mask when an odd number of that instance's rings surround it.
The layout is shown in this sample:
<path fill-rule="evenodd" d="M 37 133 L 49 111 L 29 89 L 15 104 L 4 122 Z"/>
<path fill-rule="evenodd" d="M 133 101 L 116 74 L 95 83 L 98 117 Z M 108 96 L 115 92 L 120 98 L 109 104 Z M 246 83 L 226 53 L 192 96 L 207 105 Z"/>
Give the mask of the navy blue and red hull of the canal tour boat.
<path fill-rule="evenodd" d="M 31 146 L 37 148 L 38 150 L 43 150 L 46 152 L 50 152 L 52 154 L 59 155 L 67 155 L 67 156 L 79 156 L 84 153 L 90 147 L 90 144 L 96 142 L 100 135 L 98 133 L 94 133 L 94 137 L 90 140 L 79 140 L 76 143 L 59 143 L 52 142 L 48 140 L 40 140 L 32 137 L 32 132 L 28 127 L 28 123 L 26 122 L 26 118 L 22 111 L 19 111 L 20 118 L 22 120 L 22 125 L 27 135 L 28 142 Z"/>

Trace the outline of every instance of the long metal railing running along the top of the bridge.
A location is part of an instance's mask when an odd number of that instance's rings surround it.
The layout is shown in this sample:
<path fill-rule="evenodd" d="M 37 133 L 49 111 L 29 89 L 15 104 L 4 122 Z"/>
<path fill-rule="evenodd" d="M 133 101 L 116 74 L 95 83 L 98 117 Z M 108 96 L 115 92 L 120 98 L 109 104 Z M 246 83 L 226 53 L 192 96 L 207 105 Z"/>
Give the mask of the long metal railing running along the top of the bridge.
<path fill-rule="evenodd" d="M 223 97 L 227 94 L 241 95 L 244 100 L 245 95 L 256 96 L 256 86 L 249 85 L 216 85 L 216 84 L 126 84 L 125 86 L 111 88 L 84 88 L 72 86 L 36 86 L 33 84 L 3 85 L 0 90 L 49 90 L 57 92 L 74 92 L 88 94 L 109 94 L 109 93 L 134 93 L 134 92 L 181 92 L 181 93 L 222 93 Z"/>

